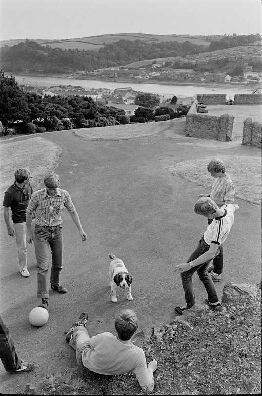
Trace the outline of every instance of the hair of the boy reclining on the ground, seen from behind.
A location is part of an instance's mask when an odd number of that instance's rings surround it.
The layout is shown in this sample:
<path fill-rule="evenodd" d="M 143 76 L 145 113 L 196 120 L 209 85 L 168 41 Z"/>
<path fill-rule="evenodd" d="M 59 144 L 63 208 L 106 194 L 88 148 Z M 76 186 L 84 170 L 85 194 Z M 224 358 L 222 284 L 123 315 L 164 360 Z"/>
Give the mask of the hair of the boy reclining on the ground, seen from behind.
<path fill-rule="evenodd" d="M 137 316 L 131 309 L 124 309 L 115 319 L 115 329 L 119 340 L 130 340 L 137 328 Z"/>

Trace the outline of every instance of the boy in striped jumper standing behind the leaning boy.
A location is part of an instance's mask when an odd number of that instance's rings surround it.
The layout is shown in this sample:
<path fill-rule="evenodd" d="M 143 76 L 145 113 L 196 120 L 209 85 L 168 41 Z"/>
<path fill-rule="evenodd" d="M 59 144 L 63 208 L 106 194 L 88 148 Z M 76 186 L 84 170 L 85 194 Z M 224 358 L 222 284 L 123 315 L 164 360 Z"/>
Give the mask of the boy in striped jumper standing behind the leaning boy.
<path fill-rule="evenodd" d="M 235 187 L 230 179 L 229 175 L 226 173 L 226 168 L 223 161 L 219 159 L 214 159 L 208 164 L 208 172 L 210 172 L 211 177 L 214 177 L 215 181 L 212 185 L 210 194 L 201 194 L 198 197 L 210 197 L 218 207 L 225 204 L 234 203 Z M 212 223 L 213 219 L 208 219 L 208 224 Z M 214 282 L 220 282 L 222 279 L 223 271 L 223 248 L 221 246 L 220 253 L 213 260 L 213 265 L 208 269 L 211 273 L 211 278 Z"/>

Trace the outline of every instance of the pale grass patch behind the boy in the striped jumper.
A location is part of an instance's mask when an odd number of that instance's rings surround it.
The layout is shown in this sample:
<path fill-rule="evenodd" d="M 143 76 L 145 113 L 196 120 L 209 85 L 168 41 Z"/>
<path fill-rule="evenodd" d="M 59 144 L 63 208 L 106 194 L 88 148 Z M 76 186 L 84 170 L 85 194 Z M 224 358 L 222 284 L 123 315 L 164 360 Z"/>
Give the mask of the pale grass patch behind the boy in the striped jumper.
<path fill-rule="evenodd" d="M 189 180 L 205 188 L 211 189 L 214 179 L 207 171 L 208 163 L 213 157 L 200 160 L 188 160 L 174 163 L 167 168 L 175 176 Z M 252 156 L 223 155 L 226 172 L 235 186 L 235 198 L 261 205 L 261 159 Z M 200 191 L 199 194 L 205 193 Z"/>

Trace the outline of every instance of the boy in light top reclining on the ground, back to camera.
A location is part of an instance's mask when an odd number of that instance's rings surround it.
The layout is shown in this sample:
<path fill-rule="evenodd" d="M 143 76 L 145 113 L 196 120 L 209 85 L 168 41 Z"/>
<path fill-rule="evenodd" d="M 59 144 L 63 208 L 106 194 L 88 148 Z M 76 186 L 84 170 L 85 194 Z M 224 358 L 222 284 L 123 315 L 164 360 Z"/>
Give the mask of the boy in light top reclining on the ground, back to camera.
<path fill-rule="evenodd" d="M 69 345 L 76 350 L 79 367 L 103 375 L 122 375 L 132 371 L 142 389 L 151 393 L 157 362 L 153 359 L 147 366 L 143 349 L 132 342 L 138 328 L 135 312 L 130 309 L 120 312 L 115 319 L 116 336 L 104 332 L 90 338 L 86 329 L 87 319 L 88 314 L 83 312 L 78 323 L 74 323 L 66 335 Z"/>

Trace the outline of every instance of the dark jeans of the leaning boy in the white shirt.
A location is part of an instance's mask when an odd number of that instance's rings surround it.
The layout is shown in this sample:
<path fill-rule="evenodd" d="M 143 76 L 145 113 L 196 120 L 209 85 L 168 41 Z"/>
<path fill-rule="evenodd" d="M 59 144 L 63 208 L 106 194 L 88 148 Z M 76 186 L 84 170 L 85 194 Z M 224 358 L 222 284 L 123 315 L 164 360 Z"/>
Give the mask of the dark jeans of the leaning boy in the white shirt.
<path fill-rule="evenodd" d="M 191 254 L 187 263 L 189 263 L 194 259 L 197 259 L 199 256 L 207 252 L 209 248 L 210 246 L 206 244 L 206 242 L 204 241 L 204 237 L 202 237 L 197 245 L 196 250 Z M 182 279 L 183 289 L 185 291 L 187 309 L 190 309 L 195 304 L 195 294 L 193 290 L 192 275 L 196 271 L 200 278 L 200 281 L 203 283 L 205 289 L 207 290 L 208 301 L 210 303 L 216 303 L 219 301 L 216 294 L 214 282 L 212 281 L 210 274 L 208 274 L 207 272 L 210 261 L 207 261 L 206 263 L 203 264 L 199 264 L 195 267 L 190 268 L 188 271 L 181 273 L 181 279 Z"/>

